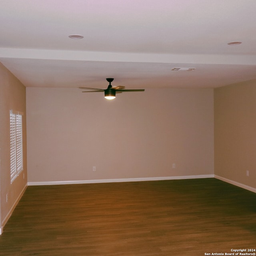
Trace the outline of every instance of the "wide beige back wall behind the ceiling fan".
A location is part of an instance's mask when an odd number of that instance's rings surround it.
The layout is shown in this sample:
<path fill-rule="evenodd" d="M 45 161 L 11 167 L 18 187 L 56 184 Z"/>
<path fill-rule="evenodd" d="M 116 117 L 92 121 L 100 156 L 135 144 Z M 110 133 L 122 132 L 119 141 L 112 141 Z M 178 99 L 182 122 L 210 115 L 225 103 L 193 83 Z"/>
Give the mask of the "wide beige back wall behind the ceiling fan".
<path fill-rule="evenodd" d="M 26 96 L 28 182 L 214 173 L 212 89 L 147 89 L 113 101 L 76 88 Z"/>

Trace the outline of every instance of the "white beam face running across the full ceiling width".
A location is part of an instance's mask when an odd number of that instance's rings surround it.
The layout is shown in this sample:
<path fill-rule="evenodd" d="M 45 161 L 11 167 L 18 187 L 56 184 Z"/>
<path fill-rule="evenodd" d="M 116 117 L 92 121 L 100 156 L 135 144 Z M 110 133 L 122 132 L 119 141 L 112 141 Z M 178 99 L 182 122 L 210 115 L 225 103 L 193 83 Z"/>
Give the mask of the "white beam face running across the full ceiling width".
<path fill-rule="evenodd" d="M 80 60 L 106 62 L 151 62 L 190 64 L 256 65 L 256 55 L 245 54 L 150 54 L 0 48 L 0 58 Z"/>

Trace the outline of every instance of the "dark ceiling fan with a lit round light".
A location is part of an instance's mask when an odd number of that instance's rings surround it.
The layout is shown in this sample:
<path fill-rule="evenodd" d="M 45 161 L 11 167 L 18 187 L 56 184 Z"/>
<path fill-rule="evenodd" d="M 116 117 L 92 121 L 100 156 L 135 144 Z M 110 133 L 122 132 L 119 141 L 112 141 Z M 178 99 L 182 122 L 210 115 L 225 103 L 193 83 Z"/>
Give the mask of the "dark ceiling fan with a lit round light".
<path fill-rule="evenodd" d="M 104 92 L 105 93 L 105 98 L 108 100 L 113 100 L 116 98 L 116 93 L 121 93 L 121 92 L 144 92 L 145 89 L 129 89 L 129 90 L 124 90 L 124 86 L 115 86 L 112 87 L 111 82 L 114 80 L 114 78 L 106 78 L 106 80 L 109 82 L 108 88 L 107 89 L 97 89 L 97 88 L 88 88 L 88 87 L 79 87 L 79 89 L 83 89 L 86 91 L 82 92 Z"/>

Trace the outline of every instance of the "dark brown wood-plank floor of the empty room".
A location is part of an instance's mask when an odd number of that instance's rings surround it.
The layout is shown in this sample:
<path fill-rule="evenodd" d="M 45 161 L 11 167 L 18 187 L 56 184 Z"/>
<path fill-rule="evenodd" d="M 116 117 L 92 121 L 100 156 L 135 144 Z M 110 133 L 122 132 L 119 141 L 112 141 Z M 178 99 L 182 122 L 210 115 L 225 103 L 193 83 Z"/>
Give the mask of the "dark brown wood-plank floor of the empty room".
<path fill-rule="evenodd" d="M 256 194 L 214 178 L 29 186 L 1 256 L 203 256 L 256 248 Z"/>

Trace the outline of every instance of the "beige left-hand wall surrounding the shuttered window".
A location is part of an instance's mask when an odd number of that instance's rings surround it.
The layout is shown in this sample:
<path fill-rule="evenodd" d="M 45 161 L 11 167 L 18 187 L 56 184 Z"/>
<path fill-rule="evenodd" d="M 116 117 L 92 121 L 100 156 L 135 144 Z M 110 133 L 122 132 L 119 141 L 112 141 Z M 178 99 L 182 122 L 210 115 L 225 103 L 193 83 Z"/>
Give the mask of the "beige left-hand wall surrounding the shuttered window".
<path fill-rule="evenodd" d="M 23 112 L 24 170 L 10 182 L 10 110 Z M 24 175 L 23 175 L 24 174 Z M 26 166 L 26 88 L 0 63 L 0 231 L 27 184 Z M 8 202 L 6 202 L 8 194 Z M 0 233 L 1 233 L 0 232 Z"/>

